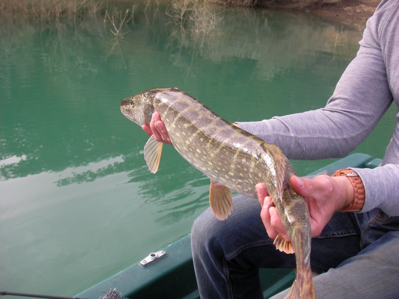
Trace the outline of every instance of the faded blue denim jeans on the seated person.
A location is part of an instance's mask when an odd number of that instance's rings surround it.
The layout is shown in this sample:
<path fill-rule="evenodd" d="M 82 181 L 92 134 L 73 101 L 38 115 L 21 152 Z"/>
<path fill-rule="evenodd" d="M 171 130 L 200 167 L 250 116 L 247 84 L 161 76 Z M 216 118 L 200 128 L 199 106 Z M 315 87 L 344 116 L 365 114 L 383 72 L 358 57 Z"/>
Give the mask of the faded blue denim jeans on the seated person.
<path fill-rule="evenodd" d="M 296 267 L 295 256 L 276 250 L 256 199 L 234 198 L 227 220 L 207 209 L 194 222 L 192 250 L 200 297 L 263 298 L 258 268 Z M 375 209 L 335 213 L 312 239 L 316 298 L 399 298 L 399 217 Z M 282 292 L 273 299 L 282 299 Z"/>

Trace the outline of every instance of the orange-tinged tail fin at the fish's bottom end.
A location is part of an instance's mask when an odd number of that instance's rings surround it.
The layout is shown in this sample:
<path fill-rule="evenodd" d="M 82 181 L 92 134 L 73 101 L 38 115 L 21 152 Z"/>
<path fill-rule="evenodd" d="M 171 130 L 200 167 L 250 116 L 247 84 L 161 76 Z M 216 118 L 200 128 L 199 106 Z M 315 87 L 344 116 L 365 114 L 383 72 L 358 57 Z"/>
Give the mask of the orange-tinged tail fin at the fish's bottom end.
<path fill-rule="evenodd" d="M 297 272 L 295 281 L 284 299 L 314 299 L 312 270 L 307 267 L 302 273 Z"/>

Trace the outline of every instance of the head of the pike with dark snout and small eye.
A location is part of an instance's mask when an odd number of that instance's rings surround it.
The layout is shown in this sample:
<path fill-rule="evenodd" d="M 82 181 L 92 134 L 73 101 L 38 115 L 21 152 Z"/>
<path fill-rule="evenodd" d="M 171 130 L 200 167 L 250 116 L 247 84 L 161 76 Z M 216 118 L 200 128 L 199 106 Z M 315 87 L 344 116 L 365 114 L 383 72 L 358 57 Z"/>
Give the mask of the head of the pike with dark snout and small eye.
<path fill-rule="evenodd" d="M 154 113 L 154 105 L 151 97 L 147 97 L 145 93 L 140 93 L 122 100 L 121 112 L 139 126 L 149 125 Z"/>

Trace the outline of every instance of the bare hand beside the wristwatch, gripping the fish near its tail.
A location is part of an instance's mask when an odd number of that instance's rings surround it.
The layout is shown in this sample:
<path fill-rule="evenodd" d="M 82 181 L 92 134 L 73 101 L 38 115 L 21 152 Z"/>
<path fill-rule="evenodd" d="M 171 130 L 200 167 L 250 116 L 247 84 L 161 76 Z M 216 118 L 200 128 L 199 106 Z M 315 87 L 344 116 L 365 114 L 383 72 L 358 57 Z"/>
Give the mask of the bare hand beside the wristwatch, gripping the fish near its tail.
<path fill-rule="evenodd" d="M 349 204 L 354 198 L 353 186 L 344 176 L 318 175 L 313 179 L 291 176 L 290 183 L 293 189 L 308 202 L 312 238 L 322 232 L 337 210 Z M 290 241 L 276 207 L 270 205 L 271 197 L 268 196 L 264 184 L 257 184 L 256 191 L 262 206 L 260 217 L 269 237 L 274 239 L 279 233 L 285 240 Z"/>

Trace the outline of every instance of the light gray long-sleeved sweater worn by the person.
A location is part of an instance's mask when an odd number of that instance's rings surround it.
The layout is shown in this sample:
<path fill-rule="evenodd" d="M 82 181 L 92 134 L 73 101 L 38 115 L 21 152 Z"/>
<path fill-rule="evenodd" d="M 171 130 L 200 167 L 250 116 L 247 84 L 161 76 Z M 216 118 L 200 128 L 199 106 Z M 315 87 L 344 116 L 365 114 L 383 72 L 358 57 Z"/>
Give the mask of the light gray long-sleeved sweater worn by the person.
<path fill-rule="evenodd" d="M 399 106 L 399 0 L 383 0 L 325 108 L 238 124 L 279 146 L 288 158 L 343 157 L 366 139 L 393 101 Z M 366 190 L 361 212 L 381 208 L 398 216 L 399 123 L 381 166 L 353 169 Z"/>

